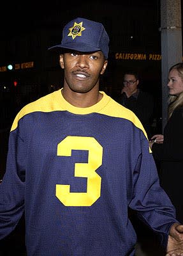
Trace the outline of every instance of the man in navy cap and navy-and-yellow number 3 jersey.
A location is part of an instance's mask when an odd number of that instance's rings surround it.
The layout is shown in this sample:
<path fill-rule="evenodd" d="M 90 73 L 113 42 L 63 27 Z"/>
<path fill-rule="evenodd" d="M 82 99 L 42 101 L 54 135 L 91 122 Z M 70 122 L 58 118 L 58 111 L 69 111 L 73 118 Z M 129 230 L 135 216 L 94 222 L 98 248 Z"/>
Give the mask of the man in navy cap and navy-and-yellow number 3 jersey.
<path fill-rule="evenodd" d="M 25 211 L 27 256 L 134 255 L 128 207 L 159 234 L 167 255 L 183 255 L 183 227 L 159 186 L 142 124 L 99 92 L 108 42 L 99 22 L 66 24 L 51 47 L 63 88 L 25 106 L 11 127 L 0 238 Z"/>

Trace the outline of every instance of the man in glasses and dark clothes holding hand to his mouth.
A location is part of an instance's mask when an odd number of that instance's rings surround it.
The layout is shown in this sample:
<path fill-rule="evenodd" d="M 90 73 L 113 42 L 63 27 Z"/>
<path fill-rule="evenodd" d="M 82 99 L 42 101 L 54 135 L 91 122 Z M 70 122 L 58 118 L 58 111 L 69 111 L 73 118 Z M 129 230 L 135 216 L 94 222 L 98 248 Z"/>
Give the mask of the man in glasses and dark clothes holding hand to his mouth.
<path fill-rule="evenodd" d="M 153 96 L 148 92 L 143 92 L 138 88 L 139 86 L 138 74 L 134 71 L 127 71 L 124 73 L 122 81 L 122 90 L 117 102 L 129 108 L 135 113 L 136 116 L 142 122 L 142 125 L 147 132 L 147 136 L 152 136 L 152 121 L 154 112 L 154 99 Z"/>

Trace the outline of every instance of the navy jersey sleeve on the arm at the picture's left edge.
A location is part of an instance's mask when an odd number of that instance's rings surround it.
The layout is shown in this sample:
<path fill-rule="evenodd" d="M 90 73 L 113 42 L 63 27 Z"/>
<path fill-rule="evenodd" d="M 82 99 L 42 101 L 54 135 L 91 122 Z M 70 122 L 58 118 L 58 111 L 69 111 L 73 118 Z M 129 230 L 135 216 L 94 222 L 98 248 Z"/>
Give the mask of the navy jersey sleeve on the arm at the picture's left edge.
<path fill-rule="evenodd" d="M 15 229 L 24 212 L 26 148 L 18 129 L 10 132 L 6 173 L 0 184 L 0 239 Z"/>

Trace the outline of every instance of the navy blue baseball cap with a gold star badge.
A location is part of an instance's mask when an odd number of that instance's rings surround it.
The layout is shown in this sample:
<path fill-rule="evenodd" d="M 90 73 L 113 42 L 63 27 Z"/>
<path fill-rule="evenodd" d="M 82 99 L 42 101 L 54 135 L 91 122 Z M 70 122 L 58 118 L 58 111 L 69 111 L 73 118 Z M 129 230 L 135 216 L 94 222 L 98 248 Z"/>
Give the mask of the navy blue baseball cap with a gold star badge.
<path fill-rule="evenodd" d="M 107 60 L 108 44 L 109 38 L 103 24 L 78 17 L 64 26 L 61 44 L 52 46 L 48 50 L 102 51 Z"/>

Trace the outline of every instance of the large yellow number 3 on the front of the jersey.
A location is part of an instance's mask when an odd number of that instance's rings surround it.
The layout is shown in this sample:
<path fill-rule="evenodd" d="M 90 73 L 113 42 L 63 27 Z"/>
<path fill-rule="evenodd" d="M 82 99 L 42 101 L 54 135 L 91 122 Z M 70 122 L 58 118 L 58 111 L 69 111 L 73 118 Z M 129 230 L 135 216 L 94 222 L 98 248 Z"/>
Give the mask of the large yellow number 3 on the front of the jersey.
<path fill-rule="evenodd" d="M 88 163 L 75 163 L 75 177 L 87 178 L 87 192 L 70 192 L 70 185 L 56 184 L 56 196 L 66 206 L 91 206 L 101 194 L 103 148 L 92 137 L 68 136 L 57 146 L 57 156 L 71 156 L 71 150 L 88 150 Z"/>

